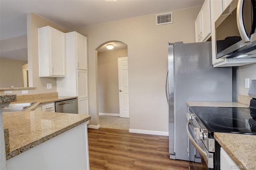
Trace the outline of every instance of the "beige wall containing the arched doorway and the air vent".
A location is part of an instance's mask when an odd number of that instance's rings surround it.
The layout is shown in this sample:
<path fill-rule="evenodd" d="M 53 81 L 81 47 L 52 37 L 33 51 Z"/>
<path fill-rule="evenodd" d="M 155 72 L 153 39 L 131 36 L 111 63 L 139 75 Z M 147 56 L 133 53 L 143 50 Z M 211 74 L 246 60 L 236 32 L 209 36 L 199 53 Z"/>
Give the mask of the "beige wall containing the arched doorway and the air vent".
<path fill-rule="evenodd" d="M 128 45 L 130 128 L 168 132 L 165 96 L 167 43 L 195 42 L 194 21 L 201 7 L 173 11 L 173 24 L 156 26 L 156 15 L 141 16 L 76 30 L 88 39 L 89 111 L 99 124 L 97 52 L 102 43 Z"/>

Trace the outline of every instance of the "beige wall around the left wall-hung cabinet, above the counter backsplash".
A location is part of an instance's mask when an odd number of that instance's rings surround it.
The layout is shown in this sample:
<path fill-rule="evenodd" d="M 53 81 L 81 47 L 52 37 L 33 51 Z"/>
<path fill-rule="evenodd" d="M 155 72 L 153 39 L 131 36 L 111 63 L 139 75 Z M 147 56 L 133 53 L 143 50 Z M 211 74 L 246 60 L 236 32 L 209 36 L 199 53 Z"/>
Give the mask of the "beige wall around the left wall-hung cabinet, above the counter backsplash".
<path fill-rule="evenodd" d="M 64 28 L 36 15 L 27 14 L 27 32 L 28 32 L 28 76 L 30 87 L 36 87 L 30 90 L 29 94 L 52 93 L 56 92 L 56 78 L 39 77 L 38 69 L 38 28 L 51 26 L 61 32 L 68 32 Z M 32 77 L 32 78 L 31 78 Z M 52 83 L 52 89 L 46 89 L 46 83 Z"/>

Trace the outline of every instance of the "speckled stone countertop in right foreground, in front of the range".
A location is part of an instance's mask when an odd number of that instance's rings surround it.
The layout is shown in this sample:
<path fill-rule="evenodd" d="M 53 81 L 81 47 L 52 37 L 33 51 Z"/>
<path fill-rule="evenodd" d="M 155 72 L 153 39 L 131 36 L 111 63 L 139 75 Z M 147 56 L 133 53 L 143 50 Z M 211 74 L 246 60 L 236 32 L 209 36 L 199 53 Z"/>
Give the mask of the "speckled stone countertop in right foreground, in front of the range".
<path fill-rule="evenodd" d="M 241 170 L 256 169 L 256 135 L 215 132 L 214 138 Z"/>

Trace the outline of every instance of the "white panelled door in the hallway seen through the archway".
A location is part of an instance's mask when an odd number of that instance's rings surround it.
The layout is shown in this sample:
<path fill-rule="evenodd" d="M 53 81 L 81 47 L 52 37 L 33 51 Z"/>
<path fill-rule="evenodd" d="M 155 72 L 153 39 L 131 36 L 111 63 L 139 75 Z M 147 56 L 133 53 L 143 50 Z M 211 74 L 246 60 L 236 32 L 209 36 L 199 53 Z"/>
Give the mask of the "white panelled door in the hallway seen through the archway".
<path fill-rule="evenodd" d="M 129 118 L 128 57 L 118 58 L 120 117 Z"/>

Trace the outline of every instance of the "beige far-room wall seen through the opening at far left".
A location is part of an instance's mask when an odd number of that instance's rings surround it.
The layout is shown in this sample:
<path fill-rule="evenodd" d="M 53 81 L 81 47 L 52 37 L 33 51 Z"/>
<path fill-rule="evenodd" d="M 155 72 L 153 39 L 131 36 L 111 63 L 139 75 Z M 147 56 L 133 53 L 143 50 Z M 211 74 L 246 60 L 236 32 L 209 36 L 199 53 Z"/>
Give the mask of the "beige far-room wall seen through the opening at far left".
<path fill-rule="evenodd" d="M 22 65 L 28 63 L 16 59 L 0 58 L 0 87 L 23 87 Z"/>

